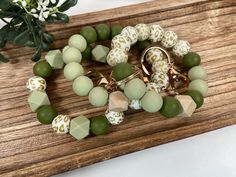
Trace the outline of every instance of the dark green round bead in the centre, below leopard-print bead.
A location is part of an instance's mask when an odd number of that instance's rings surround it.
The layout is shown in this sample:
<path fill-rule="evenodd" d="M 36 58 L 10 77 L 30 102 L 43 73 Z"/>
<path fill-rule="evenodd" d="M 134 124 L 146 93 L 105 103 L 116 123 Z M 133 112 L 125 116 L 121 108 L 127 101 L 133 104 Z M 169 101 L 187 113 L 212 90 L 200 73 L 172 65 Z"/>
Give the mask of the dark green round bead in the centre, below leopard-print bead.
<path fill-rule="evenodd" d="M 134 69 L 129 63 L 118 63 L 112 68 L 112 76 L 116 81 L 120 81 L 133 73 Z"/>

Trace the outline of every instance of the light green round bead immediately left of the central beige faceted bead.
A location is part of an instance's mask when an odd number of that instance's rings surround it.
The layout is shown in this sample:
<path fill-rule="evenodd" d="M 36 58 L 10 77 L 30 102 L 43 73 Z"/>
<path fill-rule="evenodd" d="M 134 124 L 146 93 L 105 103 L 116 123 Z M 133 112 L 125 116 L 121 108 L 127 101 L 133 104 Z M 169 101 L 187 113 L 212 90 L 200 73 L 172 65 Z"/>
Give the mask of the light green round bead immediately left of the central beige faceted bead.
<path fill-rule="evenodd" d="M 108 101 L 108 92 L 103 87 L 94 87 L 89 92 L 89 102 L 96 107 L 105 106 Z"/>

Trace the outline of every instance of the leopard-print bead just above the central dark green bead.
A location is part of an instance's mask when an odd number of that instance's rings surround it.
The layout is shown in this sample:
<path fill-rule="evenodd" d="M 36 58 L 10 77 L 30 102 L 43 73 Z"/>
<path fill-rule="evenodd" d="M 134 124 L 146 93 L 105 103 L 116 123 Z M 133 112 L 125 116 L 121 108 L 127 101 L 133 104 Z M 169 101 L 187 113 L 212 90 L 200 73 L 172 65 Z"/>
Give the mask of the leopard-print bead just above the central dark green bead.
<path fill-rule="evenodd" d="M 115 66 L 118 63 L 125 63 L 128 61 L 128 54 L 122 49 L 114 48 L 107 55 L 107 63 L 110 66 Z"/>

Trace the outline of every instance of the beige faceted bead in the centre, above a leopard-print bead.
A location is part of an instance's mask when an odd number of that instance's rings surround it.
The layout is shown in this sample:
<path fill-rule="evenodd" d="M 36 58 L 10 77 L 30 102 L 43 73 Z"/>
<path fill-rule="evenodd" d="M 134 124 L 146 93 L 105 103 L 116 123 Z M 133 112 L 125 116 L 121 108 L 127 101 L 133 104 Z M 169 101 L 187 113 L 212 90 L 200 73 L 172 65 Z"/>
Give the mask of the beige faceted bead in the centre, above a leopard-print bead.
<path fill-rule="evenodd" d="M 124 112 L 128 110 L 129 99 L 121 92 L 115 91 L 109 95 L 108 109 L 115 112 Z"/>

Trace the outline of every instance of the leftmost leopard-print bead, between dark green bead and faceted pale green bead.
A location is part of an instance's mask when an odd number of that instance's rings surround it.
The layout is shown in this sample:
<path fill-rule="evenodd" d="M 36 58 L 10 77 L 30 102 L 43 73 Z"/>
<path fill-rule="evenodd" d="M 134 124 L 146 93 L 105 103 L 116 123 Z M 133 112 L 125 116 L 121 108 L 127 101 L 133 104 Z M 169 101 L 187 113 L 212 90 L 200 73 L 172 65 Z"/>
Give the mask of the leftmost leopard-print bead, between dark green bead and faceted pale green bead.
<path fill-rule="evenodd" d="M 46 90 L 47 83 L 42 77 L 33 76 L 29 78 L 28 81 L 26 82 L 26 87 L 31 92 L 34 90 L 44 91 Z"/>

